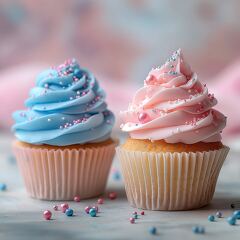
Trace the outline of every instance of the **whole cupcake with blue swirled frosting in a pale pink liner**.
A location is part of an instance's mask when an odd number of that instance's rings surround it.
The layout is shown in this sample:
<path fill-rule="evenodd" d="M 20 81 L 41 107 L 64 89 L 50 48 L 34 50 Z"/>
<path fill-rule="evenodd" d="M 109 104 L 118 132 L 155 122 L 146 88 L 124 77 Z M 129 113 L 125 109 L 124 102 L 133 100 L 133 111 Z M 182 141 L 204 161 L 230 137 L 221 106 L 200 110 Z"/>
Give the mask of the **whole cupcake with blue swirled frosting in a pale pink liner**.
<path fill-rule="evenodd" d="M 73 200 L 104 192 L 115 151 L 114 115 L 94 75 L 75 59 L 39 74 L 13 114 L 13 142 L 28 194 Z"/>

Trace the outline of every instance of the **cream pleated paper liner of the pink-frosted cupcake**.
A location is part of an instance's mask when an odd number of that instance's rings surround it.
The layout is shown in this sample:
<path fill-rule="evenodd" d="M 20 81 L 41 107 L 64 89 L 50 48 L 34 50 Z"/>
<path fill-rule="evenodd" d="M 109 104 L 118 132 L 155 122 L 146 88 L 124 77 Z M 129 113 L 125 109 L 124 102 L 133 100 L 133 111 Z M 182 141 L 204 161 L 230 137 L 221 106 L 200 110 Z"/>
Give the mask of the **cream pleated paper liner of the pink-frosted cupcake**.
<path fill-rule="evenodd" d="M 207 205 L 229 148 L 196 153 L 127 151 L 117 147 L 128 201 L 149 210 L 189 210 Z"/>

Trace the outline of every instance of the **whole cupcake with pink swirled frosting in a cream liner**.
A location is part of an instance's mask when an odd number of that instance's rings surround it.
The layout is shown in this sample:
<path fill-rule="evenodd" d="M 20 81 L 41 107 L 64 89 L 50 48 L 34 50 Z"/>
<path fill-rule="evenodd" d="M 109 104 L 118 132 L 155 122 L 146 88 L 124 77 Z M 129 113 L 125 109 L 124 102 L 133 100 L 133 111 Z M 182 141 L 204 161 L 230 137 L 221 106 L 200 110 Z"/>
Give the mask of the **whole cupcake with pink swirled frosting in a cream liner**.
<path fill-rule="evenodd" d="M 117 147 L 130 204 L 149 210 L 207 205 L 229 148 L 221 142 L 226 117 L 184 61 L 181 50 L 152 69 L 127 111 Z"/>

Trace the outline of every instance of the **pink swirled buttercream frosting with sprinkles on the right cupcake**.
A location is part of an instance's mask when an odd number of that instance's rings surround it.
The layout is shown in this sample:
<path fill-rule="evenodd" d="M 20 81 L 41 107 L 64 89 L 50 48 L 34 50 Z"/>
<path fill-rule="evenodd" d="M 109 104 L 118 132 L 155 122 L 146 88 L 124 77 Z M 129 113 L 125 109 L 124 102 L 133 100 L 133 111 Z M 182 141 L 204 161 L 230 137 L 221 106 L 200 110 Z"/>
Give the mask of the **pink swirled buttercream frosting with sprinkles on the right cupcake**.
<path fill-rule="evenodd" d="M 150 71 L 128 110 L 121 112 L 121 128 L 135 139 L 186 144 L 221 141 L 226 117 L 213 109 L 216 104 L 179 49 L 162 67 Z"/>

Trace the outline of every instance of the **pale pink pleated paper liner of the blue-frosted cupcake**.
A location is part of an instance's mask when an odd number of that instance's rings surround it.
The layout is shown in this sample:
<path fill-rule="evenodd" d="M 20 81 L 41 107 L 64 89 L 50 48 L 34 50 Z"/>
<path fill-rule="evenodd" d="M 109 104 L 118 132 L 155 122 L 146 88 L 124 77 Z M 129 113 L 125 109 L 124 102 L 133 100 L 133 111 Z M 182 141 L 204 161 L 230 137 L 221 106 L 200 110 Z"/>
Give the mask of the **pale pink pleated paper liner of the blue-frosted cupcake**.
<path fill-rule="evenodd" d="M 104 192 L 115 146 L 49 150 L 13 144 L 13 150 L 31 197 L 73 200 Z"/>

